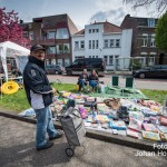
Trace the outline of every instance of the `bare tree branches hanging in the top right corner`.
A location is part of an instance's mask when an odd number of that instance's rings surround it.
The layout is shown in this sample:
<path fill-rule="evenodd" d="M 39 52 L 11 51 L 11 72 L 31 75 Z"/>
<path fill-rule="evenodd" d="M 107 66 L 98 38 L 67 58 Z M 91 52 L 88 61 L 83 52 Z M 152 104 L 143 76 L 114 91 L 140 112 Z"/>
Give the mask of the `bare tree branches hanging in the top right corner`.
<path fill-rule="evenodd" d="M 156 7 L 156 11 L 161 13 L 167 10 L 167 0 L 122 0 L 125 3 L 131 3 L 134 9 L 138 7 L 150 8 L 151 6 Z"/>

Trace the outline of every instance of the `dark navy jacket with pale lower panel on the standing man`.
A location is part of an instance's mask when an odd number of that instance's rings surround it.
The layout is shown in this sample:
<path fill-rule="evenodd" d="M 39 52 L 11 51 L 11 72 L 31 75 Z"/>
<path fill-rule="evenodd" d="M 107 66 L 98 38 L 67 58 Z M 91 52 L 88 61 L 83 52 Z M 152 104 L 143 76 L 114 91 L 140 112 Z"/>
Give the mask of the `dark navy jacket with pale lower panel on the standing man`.
<path fill-rule="evenodd" d="M 23 70 L 23 85 L 29 104 L 41 109 L 52 104 L 52 88 L 45 72 L 45 62 L 29 56 Z"/>

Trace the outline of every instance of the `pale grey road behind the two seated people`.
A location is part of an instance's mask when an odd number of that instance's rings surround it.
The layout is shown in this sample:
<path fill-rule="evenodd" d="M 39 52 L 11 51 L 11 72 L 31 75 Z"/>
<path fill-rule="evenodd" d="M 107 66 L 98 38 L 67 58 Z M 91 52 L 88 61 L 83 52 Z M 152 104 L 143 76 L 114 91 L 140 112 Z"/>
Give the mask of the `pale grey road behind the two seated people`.
<path fill-rule="evenodd" d="M 125 87 L 125 77 L 120 76 L 119 86 Z M 65 84 L 77 84 L 78 76 L 61 76 L 61 75 L 50 75 L 48 76 L 50 81 L 62 81 Z M 109 85 L 111 81 L 111 76 L 106 75 L 99 78 L 105 85 Z M 167 90 L 167 79 L 135 79 L 135 88 L 137 89 L 153 89 L 153 90 Z"/>

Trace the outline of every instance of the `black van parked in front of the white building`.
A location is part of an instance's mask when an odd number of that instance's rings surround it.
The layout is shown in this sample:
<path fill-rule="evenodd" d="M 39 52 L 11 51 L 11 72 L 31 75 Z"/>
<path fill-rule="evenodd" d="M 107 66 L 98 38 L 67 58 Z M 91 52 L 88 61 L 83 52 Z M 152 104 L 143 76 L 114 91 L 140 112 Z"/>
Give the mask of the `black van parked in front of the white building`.
<path fill-rule="evenodd" d="M 66 67 L 68 76 L 80 75 L 84 69 L 91 71 L 95 69 L 99 76 L 105 76 L 106 65 L 101 58 L 76 59 L 70 66 Z"/>

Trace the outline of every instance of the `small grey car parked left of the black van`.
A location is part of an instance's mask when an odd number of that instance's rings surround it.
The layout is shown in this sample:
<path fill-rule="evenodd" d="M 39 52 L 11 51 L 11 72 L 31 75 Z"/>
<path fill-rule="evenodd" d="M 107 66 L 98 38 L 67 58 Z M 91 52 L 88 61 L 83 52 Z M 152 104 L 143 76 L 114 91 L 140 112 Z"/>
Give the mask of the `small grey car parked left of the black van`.
<path fill-rule="evenodd" d="M 65 67 L 61 65 L 50 65 L 46 66 L 47 75 L 62 75 L 65 73 Z"/>

